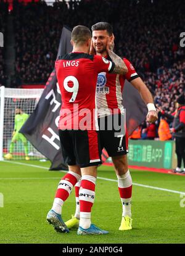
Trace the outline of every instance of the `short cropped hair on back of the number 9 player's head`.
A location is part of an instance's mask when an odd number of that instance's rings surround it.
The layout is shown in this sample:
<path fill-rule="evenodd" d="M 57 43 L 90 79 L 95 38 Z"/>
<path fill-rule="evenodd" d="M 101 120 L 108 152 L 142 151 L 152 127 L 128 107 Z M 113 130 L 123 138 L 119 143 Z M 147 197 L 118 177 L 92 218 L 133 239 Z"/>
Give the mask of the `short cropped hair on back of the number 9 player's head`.
<path fill-rule="evenodd" d="M 88 27 L 78 25 L 73 28 L 72 40 L 75 44 L 84 44 L 91 38 L 91 31 Z"/>

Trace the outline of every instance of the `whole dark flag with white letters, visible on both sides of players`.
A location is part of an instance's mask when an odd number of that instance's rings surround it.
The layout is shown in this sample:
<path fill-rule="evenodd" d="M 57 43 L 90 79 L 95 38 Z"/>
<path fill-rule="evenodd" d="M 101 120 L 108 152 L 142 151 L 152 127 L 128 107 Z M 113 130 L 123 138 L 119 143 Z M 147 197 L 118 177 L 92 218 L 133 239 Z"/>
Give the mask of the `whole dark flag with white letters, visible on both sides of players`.
<path fill-rule="evenodd" d="M 72 51 L 70 39 L 71 31 L 64 27 L 60 37 L 57 57 Z M 138 90 L 128 81 L 125 81 L 122 96 L 123 106 L 126 109 L 126 127 L 128 135 L 130 135 L 145 120 L 147 107 L 142 101 Z M 39 152 L 51 160 L 52 165 L 49 170 L 67 170 L 67 165 L 65 165 L 62 157 L 57 130 L 60 107 L 60 89 L 57 85 L 54 69 L 46 83 L 46 88 L 39 99 L 35 111 L 20 130 Z M 109 156 L 104 150 L 102 152 L 102 162 L 107 157 Z"/>

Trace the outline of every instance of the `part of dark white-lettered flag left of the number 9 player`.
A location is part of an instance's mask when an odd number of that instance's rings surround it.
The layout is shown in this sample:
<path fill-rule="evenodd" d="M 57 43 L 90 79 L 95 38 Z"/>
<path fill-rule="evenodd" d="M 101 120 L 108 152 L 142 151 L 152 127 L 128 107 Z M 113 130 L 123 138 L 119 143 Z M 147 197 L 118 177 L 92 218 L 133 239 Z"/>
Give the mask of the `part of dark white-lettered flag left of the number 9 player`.
<path fill-rule="evenodd" d="M 57 57 L 72 51 L 70 39 L 71 31 L 63 27 Z M 51 160 L 52 165 L 49 170 L 67 170 L 68 168 L 62 157 L 57 130 L 60 107 L 60 89 L 54 68 L 35 111 L 20 130 L 39 152 Z"/>

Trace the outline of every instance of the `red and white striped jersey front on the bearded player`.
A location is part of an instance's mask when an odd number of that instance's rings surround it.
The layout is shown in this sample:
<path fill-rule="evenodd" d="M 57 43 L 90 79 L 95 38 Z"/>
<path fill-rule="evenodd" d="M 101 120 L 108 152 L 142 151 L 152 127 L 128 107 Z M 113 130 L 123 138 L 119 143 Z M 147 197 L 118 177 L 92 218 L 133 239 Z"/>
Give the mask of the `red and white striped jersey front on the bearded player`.
<path fill-rule="evenodd" d="M 111 60 L 110 57 L 105 57 Z M 138 76 L 136 70 L 128 59 L 123 58 L 128 72 L 126 75 L 117 75 L 101 72 L 98 74 L 96 86 L 96 105 L 98 116 L 104 117 L 110 114 L 123 114 L 122 92 L 125 79 L 131 81 Z"/>

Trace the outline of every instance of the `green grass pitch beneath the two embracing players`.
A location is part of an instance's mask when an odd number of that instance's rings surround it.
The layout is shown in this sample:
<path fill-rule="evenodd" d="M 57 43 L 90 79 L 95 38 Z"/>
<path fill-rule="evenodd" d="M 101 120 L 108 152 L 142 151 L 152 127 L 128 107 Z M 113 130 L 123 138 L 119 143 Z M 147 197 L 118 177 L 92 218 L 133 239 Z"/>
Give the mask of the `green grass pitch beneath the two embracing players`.
<path fill-rule="evenodd" d="M 133 183 L 137 183 L 133 185 L 131 231 L 118 230 L 122 209 L 117 182 L 97 179 L 92 223 L 109 230 L 109 234 L 78 236 L 76 231 L 56 233 L 46 222 L 57 184 L 64 173 L 48 171 L 49 162 L 17 163 L 0 162 L 0 193 L 4 197 L 4 207 L 0 207 L 0 243 L 184 243 L 185 207 L 181 206 L 185 206 L 185 197 L 180 192 L 184 191 L 185 176 L 130 170 Z M 112 167 L 99 167 L 98 176 L 116 180 Z M 74 211 L 73 190 L 62 210 L 64 220 Z"/>

